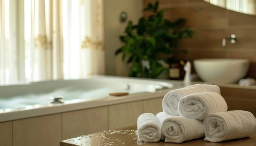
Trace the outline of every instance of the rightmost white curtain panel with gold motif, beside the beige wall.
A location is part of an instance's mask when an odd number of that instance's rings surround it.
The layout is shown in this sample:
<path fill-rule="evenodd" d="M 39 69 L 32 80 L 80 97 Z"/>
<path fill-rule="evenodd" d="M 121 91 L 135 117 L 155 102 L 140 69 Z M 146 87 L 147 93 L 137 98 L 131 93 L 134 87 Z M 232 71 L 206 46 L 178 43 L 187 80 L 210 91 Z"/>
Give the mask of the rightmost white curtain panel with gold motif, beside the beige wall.
<path fill-rule="evenodd" d="M 63 0 L 64 78 L 104 74 L 102 3 Z"/>

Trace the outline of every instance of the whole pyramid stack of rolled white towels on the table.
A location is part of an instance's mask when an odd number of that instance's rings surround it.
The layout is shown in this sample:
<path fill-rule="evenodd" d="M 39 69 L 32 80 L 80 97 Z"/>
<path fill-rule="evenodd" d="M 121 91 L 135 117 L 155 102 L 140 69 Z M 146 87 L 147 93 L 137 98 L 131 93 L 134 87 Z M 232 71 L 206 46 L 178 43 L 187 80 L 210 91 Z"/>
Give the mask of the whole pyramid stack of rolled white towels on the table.
<path fill-rule="evenodd" d="M 205 135 L 205 141 L 219 142 L 256 133 L 253 114 L 227 112 L 227 103 L 220 93 L 216 85 L 201 84 L 168 92 L 162 101 L 163 112 L 139 116 L 138 140 L 182 143 Z"/>

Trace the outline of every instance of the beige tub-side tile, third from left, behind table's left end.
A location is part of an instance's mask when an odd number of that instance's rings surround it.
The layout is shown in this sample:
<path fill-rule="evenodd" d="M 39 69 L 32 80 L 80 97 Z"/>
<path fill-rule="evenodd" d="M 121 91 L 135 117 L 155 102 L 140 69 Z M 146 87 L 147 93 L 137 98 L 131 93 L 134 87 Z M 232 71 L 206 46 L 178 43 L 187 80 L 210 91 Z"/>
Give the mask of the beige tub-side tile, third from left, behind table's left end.
<path fill-rule="evenodd" d="M 62 139 L 104 131 L 108 129 L 107 121 L 107 106 L 63 113 Z"/>

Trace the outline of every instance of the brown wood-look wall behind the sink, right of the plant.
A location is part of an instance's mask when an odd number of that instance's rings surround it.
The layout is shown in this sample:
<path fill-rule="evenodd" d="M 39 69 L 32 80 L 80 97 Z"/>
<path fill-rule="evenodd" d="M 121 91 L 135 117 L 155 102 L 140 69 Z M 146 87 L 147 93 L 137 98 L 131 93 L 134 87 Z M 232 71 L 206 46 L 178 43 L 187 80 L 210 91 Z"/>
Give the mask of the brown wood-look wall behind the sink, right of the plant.
<path fill-rule="evenodd" d="M 144 6 L 155 0 L 144 0 Z M 171 8 L 165 13 L 169 20 L 185 18 L 197 36 L 180 42 L 180 48 L 188 50 L 181 58 L 246 58 L 251 61 L 248 77 L 256 78 L 256 16 L 236 13 L 219 8 L 203 0 L 159 0 L 160 9 Z M 144 14 L 147 15 L 147 14 Z M 235 34 L 237 42 L 222 38 Z"/>

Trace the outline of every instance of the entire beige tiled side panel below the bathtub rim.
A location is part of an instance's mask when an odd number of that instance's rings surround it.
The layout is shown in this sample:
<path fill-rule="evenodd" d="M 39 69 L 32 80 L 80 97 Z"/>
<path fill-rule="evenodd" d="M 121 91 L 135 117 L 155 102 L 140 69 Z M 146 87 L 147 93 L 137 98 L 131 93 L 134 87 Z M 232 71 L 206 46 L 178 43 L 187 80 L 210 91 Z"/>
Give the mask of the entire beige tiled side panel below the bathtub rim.
<path fill-rule="evenodd" d="M 0 122 L 0 146 L 58 146 L 59 141 L 89 133 L 137 124 L 145 112 L 158 113 L 163 95 L 149 100 Z M 151 93 L 152 95 L 153 93 Z M 159 103 L 156 104 L 155 102 Z M 147 105 L 148 104 L 148 105 Z M 151 108 L 149 106 L 153 106 Z M 144 108 L 144 106 L 147 106 Z M 3 135 L 3 136 L 2 136 Z"/>

